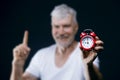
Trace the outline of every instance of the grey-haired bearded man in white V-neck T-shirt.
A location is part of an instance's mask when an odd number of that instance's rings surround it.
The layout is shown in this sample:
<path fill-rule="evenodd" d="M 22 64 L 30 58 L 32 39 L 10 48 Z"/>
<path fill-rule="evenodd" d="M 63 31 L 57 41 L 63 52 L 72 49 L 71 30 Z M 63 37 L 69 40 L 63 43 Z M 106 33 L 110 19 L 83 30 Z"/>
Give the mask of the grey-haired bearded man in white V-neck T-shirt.
<path fill-rule="evenodd" d="M 78 31 L 76 11 L 61 4 L 51 13 L 52 36 L 56 42 L 39 50 L 28 68 L 23 66 L 29 55 L 28 31 L 23 43 L 13 49 L 11 80 L 101 80 L 97 53 L 103 49 L 103 42 L 96 37 L 96 46 L 91 51 L 80 49 L 75 41 Z M 96 58 L 97 57 L 97 58 Z"/>

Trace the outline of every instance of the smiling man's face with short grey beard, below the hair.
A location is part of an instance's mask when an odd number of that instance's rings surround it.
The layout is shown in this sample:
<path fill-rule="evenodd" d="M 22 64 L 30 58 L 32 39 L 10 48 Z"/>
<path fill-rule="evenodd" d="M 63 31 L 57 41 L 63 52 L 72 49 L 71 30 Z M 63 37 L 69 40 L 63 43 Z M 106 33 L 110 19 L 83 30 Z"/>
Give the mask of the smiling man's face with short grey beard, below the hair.
<path fill-rule="evenodd" d="M 52 17 L 52 36 L 57 45 L 68 47 L 74 40 L 77 30 L 78 26 L 71 15 L 63 19 Z"/>

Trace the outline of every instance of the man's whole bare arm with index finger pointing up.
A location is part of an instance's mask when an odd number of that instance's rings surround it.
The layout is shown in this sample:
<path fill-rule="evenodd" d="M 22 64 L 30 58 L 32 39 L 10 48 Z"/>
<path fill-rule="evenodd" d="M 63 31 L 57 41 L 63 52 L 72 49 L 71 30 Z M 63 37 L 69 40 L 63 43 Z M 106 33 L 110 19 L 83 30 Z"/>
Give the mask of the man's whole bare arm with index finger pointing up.
<path fill-rule="evenodd" d="M 29 55 L 30 48 L 28 43 L 28 31 L 25 31 L 23 42 L 13 49 L 12 72 L 10 80 L 37 80 L 36 77 L 30 73 L 23 74 L 23 67 Z"/>

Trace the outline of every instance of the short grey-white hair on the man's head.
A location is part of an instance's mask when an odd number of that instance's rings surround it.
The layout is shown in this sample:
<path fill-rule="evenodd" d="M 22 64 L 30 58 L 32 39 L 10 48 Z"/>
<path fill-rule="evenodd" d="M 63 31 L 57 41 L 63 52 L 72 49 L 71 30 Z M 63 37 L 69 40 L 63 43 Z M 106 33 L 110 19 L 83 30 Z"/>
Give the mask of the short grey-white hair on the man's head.
<path fill-rule="evenodd" d="M 77 12 L 66 4 L 55 6 L 53 11 L 51 12 L 51 17 L 57 17 L 58 19 L 65 18 L 68 15 L 72 15 L 74 22 L 77 23 Z"/>

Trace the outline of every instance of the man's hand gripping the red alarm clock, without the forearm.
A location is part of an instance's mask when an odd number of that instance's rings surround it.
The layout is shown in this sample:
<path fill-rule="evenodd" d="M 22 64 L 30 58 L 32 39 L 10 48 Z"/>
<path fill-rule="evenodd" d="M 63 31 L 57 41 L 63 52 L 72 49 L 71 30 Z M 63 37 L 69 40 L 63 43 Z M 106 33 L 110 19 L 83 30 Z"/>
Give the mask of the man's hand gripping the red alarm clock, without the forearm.
<path fill-rule="evenodd" d="M 97 53 L 100 50 L 103 50 L 103 41 L 101 41 L 97 36 L 95 37 L 95 47 L 91 51 L 84 51 L 83 50 L 83 60 L 86 64 L 92 63 L 95 58 L 97 57 Z"/>

